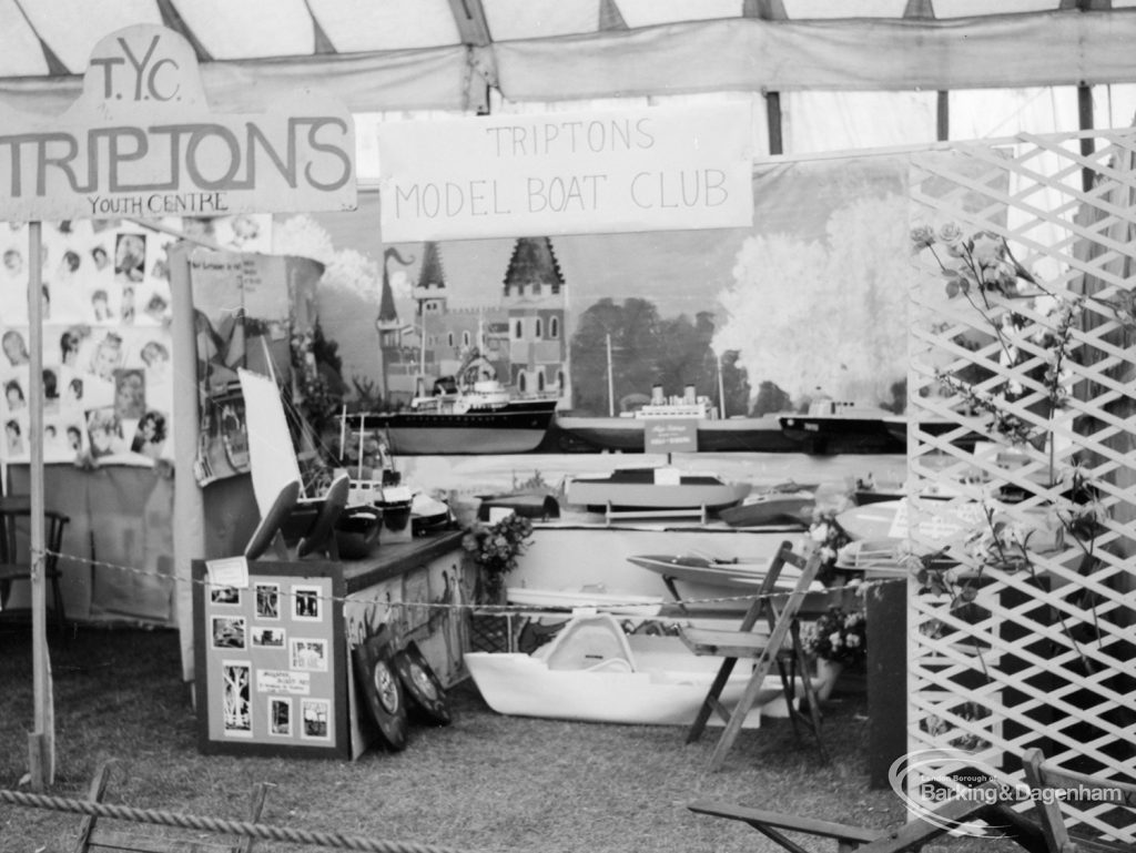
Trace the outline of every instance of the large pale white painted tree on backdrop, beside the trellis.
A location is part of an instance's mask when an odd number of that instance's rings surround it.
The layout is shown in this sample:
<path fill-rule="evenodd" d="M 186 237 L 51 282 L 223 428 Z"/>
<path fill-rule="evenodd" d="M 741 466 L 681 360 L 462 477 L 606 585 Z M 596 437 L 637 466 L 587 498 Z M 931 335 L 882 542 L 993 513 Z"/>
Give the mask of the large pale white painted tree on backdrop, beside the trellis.
<path fill-rule="evenodd" d="M 737 350 L 749 376 L 794 401 L 819 387 L 891 405 L 905 373 L 907 234 L 905 202 L 888 194 L 836 208 L 822 241 L 749 237 L 718 296 L 726 321 L 715 350 Z"/>

